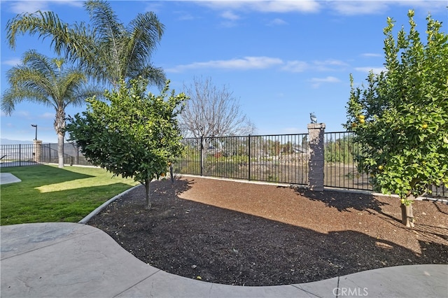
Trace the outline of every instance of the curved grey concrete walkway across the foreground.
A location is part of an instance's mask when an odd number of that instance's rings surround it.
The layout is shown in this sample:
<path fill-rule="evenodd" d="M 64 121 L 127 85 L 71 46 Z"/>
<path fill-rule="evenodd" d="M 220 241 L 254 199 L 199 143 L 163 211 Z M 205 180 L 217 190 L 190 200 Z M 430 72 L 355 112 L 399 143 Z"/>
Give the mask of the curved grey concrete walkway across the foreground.
<path fill-rule="evenodd" d="M 448 264 L 388 267 L 296 285 L 242 287 L 151 267 L 89 225 L 7 225 L 0 227 L 0 233 L 1 297 L 448 296 Z"/>

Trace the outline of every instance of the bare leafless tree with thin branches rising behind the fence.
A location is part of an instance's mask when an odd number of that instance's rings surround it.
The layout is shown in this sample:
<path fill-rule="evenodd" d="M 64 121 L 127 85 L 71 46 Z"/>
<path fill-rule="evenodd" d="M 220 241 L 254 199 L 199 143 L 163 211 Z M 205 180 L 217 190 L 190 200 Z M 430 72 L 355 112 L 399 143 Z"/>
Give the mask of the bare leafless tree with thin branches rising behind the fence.
<path fill-rule="evenodd" d="M 252 134 L 255 125 L 241 111 L 233 92 L 223 85 L 218 88 L 211 78 L 194 78 L 183 92 L 190 100 L 180 115 L 180 125 L 185 136 L 214 138 Z"/>

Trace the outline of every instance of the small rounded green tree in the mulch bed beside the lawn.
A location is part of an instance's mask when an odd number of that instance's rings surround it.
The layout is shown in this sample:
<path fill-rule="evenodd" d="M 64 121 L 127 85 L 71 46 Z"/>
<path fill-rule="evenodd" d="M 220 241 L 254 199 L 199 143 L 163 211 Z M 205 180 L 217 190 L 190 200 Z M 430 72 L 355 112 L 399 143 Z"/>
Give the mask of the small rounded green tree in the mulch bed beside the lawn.
<path fill-rule="evenodd" d="M 89 162 L 145 185 L 151 209 L 151 181 L 165 176 L 183 148 L 176 117 L 187 97 L 174 91 L 168 96 L 169 82 L 159 96 L 146 94 L 147 85 L 141 78 L 129 88 L 122 81 L 118 90 L 105 93 L 110 104 L 87 99 L 87 111 L 71 118 L 67 130 Z"/>

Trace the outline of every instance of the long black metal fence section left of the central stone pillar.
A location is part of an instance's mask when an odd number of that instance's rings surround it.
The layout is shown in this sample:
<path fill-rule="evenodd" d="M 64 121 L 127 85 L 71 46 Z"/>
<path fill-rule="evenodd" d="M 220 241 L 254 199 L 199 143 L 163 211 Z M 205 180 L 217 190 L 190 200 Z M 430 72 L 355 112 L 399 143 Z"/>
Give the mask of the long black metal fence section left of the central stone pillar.
<path fill-rule="evenodd" d="M 307 184 L 307 134 L 188 138 L 183 144 L 179 173 Z"/>

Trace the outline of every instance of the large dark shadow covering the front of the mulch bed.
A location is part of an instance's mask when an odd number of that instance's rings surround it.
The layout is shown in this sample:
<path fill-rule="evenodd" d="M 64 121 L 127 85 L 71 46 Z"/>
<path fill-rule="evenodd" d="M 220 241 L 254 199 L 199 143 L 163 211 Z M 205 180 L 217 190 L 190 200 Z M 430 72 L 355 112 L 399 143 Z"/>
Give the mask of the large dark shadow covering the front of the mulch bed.
<path fill-rule="evenodd" d="M 151 211 L 144 211 L 144 187 L 137 187 L 89 224 L 154 267 L 228 285 L 307 283 L 381 267 L 448 262 L 448 246 L 435 239 L 419 241 L 423 253 L 416 253 L 363 232 L 321 233 L 178 197 L 194 183 L 152 183 Z M 329 203 L 342 211 L 353 207 Z M 357 206 L 372 207 L 370 198 Z"/>

